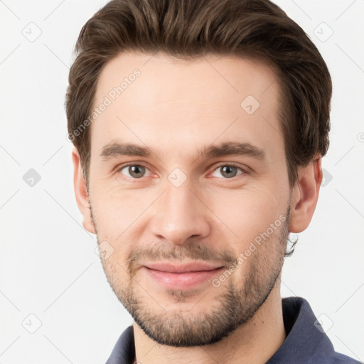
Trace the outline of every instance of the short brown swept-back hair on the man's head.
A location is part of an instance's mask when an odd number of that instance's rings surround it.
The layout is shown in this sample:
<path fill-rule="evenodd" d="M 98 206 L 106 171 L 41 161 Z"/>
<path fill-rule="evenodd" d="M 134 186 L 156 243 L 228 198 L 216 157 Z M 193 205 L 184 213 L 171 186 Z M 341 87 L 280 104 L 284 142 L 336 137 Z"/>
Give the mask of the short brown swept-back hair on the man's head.
<path fill-rule="evenodd" d="M 237 55 L 269 63 L 281 92 L 290 185 L 296 183 L 297 166 L 326 154 L 331 76 L 309 36 L 279 6 L 269 0 L 112 0 L 82 27 L 65 101 L 68 136 L 80 153 L 86 182 L 90 128 L 75 131 L 90 115 L 102 69 L 127 50 L 187 60 Z"/>

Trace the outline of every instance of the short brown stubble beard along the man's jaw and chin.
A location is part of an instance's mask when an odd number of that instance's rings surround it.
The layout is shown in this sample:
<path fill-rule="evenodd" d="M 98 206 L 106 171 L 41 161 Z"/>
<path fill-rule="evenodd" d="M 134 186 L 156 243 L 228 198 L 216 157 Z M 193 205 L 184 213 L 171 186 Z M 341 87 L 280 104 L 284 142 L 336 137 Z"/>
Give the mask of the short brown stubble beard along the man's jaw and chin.
<path fill-rule="evenodd" d="M 94 222 L 95 224 L 95 222 Z M 119 301 L 133 317 L 139 327 L 156 343 L 174 347 L 205 346 L 221 341 L 244 325 L 259 310 L 267 300 L 282 272 L 284 252 L 289 237 L 289 208 L 284 223 L 262 242 L 255 252 L 242 264 L 242 284 L 237 287 L 235 279 L 229 277 L 219 287 L 222 293 L 215 296 L 210 307 L 196 311 L 171 309 L 166 311 L 158 303 L 155 294 L 147 293 L 144 287 L 134 278 L 129 269 L 129 281 L 125 286 L 120 277 L 120 269 L 124 262 L 114 262 L 112 259 L 102 260 L 107 281 Z M 96 226 L 96 225 L 95 225 Z M 98 237 L 98 235 L 97 235 Z M 173 255 L 175 256 L 175 254 Z M 228 255 L 229 256 L 229 255 Z M 201 257 L 199 258 L 201 259 Z M 237 268 L 233 274 L 240 274 Z M 126 269 L 124 269 L 126 273 Z M 148 287 L 147 287 L 148 288 Z M 210 289 L 216 289 L 211 285 Z M 193 290 L 168 290 L 166 294 L 174 296 L 178 301 L 185 301 L 193 296 Z M 203 301 L 203 300 L 201 300 Z M 196 298 L 196 306 L 198 306 Z M 193 305 L 192 305 L 193 306 Z"/>

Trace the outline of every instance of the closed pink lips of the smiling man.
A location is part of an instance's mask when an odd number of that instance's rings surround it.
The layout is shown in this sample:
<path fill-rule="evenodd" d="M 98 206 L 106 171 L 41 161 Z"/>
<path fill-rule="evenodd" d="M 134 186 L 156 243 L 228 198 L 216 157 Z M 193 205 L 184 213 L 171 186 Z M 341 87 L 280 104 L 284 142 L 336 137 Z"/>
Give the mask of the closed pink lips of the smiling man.
<path fill-rule="evenodd" d="M 157 284 L 167 289 L 187 290 L 209 282 L 224 267 L 205 263 L 148 264 L 143 267 L 146 274 Z"/>

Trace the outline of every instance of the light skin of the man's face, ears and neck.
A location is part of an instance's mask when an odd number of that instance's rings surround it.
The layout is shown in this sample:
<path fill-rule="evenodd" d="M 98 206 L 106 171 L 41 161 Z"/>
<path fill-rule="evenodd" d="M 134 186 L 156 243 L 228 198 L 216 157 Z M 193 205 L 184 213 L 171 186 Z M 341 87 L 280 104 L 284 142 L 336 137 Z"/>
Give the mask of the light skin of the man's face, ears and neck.
<path fill-rule="evenodd" d="M 277 119 L 279 85 L 267 64 L 124 53 L 102 71 L 95 105 L 135 68 L 141 75 L 91 124 L 88 193 L 77 149 L 73 164 L 83 226 L 113 250 L 102 264 L 134 318 L 136 358 L 265 363 L 286 337 L 279 288 L 284 250 L 288 233 L 305 230 L 314 214 L 321 156 L 299 168 L 291 188 Z M 253 114 L 240 107 L 247 95 L 260 104 Z M 154 154 L 102 158 L 103 147 L 117 140 Z M 199 154 L 224 141 L 257 146 L 265 159 Z M 141 178 L 124 168 L 129 162 L 146 167 L 137 170 Z M 224 173 L 230 164 L 237 168 Z M 186 177 L 178 187 L 168 180 L 175 168 L 179 181 Z M 220 287 L 210 280 L 196 289 L 166 289 L 143 268 L 205 261 L 228 269 L 279 216 L 284 223 Z"/>

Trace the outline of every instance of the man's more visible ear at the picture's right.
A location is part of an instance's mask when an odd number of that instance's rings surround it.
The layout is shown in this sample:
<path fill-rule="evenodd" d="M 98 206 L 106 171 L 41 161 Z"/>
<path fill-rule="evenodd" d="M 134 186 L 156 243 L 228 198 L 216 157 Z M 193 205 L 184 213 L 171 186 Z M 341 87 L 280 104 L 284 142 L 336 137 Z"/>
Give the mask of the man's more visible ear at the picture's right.
<path fill-rule="evenodd" d="M 314 215 L 322 181 L 321 155 L 315 156 L 307 166 L 299 167 L 298 177 L 292 191 L 290 232 L 306 230 Z"/>

